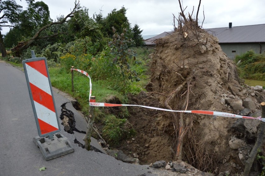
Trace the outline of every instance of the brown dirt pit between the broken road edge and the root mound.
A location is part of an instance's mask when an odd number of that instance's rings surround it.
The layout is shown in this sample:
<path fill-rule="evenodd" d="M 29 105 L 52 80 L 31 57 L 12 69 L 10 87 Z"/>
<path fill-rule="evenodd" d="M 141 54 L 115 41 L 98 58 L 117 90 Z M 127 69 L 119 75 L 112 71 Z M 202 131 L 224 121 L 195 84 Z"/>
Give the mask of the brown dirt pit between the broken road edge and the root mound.
<path fill-rule="evenodd" d="M 131 96 L 130 100 L 130 104 L 160 107 L 158 100 L 145 92 Z M 173 139 L 165 133 L 168 129 L 161 126 L 164 122 L 160 122 L 159 119 L 165 112 L 142 107 L 128 107 L 128 111 L 130 113 L 128 121 L 137 134 L 122 141 L 118 149 L 131 157 L 136 153 L 140 164 L 151 164 L 159 160 L 173 161 Z"/>

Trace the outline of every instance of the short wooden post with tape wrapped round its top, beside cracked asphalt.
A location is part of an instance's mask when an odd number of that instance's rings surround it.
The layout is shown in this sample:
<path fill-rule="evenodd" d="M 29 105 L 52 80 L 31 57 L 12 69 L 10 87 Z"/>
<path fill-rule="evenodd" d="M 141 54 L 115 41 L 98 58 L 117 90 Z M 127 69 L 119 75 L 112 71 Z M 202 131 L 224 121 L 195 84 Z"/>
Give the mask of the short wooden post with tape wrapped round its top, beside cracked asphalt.
<path fill-rule="evenodd" d="M 91 96 L 90 97 L 91 100 L 96 100 L 95 96 Z M 92 135 L 92 130 L 93 130 L 93 123 L 95 120 L 95 115 L 94 115 L 94 109 L 95 106 L 90 106 L 89 109 L 89 119 L 88 119 L 88 124 L 86 127 L 86 136 L 83 138 L 83 140 L 85 141 L 85 148 L 86 150 L 90 150 L 90 142 L 91 142 L 91 135 Z"/>

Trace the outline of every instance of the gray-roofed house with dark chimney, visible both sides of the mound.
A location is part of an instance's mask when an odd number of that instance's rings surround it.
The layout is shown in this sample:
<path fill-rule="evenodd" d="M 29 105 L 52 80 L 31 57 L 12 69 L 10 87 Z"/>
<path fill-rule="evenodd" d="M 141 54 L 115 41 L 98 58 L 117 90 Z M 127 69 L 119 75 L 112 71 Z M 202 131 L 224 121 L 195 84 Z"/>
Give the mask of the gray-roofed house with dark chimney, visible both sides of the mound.
<path fill-rule="evenodd" d="M 204 29 L 209 34 L 219 39 L 222 50 L 230 59 L 234 59 L 235 55 L 254 50 L 256 53 L 265 52 L 265 24 L 232 26 L 228 27 Z M 146 45 L 155 45 L 155 40 L 169 35 L 171 32 L 163 32 L 155 37 L 145 40 Z"/>

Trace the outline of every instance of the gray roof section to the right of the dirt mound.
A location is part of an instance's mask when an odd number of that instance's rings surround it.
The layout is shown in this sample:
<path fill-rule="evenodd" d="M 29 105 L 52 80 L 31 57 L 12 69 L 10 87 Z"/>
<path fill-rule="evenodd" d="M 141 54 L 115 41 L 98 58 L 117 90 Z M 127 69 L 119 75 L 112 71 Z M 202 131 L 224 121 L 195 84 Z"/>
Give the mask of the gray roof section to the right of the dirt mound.
<path fill-rule="evenodd" d="M 216 36 L 219 43 L 265 42 L 265 24 L 204 29 Z"/>

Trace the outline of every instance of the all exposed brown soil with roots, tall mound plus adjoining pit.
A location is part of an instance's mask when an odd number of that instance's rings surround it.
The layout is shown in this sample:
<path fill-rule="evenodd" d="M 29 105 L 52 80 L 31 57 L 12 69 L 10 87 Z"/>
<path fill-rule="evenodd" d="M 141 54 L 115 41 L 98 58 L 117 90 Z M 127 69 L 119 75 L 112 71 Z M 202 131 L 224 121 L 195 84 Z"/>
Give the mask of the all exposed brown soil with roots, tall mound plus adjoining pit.
<path fill-rule="evenodd" d="M 221 101 L 229 96 L 239 102 L 251 98 L 255 110 L 263 95 L 251 96 L 240 83 L 235 63 L 227 57 L 218 39 L 205 30 L 184 25 L 156 41 L 151 54 L 151 79 L 148 93 L 131 97 L 132 104 L 173 110 L 209 110 L 238 114 L 242 107 Z M 184 34 L 187 37 L 184 37 Z M 239 103 L 240 104 L 240 103 Z M 191 113 L 169 113 L 141 107 L 128 107 L 129 122 L 137 131 L 124 140 L 119 149 L 127 155 L 137 154 L 141 164 L 158 160 L 183 160 L 203 172 L 230 175 L 244 171 L 238 151 L 230 149 L 231 137 L 244 138 L 232 129 L 237 118 Z M 182 144 L 179 144 L 181 137 Z M 255 141 L 248 141 L 254 143 Z M 176 155 L 178 147 L 180 155 Z"/>

